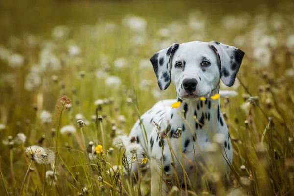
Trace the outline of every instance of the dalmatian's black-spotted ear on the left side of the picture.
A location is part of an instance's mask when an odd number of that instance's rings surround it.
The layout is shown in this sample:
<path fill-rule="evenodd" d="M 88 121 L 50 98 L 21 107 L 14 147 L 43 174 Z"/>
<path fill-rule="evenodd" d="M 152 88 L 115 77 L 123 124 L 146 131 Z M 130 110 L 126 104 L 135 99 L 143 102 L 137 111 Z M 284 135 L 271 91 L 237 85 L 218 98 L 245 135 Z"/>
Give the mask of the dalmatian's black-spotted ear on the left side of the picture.
<path fill-rule="evenodd" d="M 170 48 L 160 50 L 150 58 L 160 90 L 167 89 L 171 83 L 172 57 L 179 46 L 174 43 Z"/>

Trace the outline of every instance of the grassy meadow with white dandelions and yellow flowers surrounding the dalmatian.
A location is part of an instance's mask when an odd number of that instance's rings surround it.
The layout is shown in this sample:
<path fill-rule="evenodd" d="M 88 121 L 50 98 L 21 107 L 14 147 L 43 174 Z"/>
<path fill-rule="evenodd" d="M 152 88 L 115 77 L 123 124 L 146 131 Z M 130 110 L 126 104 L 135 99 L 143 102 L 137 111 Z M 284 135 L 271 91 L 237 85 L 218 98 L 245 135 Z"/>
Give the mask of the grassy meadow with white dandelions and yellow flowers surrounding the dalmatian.
<path fill-rule="evenodd" d="M 189 193 L 293 196 L 294 3 L 253 0 L 0 1 L 1 195 L 150 195 L 148 157 L 127 160 L 123 144 L 140 114 L 176 98 L 149 58 L 195 40 L 245 56 L 221 83 L 235 91 L 220 98 L 232 171 Z M 134 185 L 127 162 L 144 164 Z"/>

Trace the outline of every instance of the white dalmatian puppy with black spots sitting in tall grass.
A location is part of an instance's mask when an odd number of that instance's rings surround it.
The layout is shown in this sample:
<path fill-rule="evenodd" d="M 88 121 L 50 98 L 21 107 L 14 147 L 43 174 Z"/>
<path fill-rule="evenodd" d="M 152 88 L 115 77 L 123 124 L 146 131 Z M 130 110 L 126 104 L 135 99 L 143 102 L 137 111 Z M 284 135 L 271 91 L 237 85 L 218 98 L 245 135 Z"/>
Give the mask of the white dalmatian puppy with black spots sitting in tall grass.
<path fill-rule="evenodd" d="M 219 93 L 220 80 L 227 86 L 234 84 L 243 56 L 244 52 L 233 46 L 193 41 L 175 43 L 151 57 L 159 88 L 167 89 L 172 81 L 177 95 L 177 100 L 156 103 L 129 134 L 151 162 L 151 196 L 165 195 L 172 185 L 184 182 L 188 188 L 195 188 L 211 161 L 209 149 L 215 135 L 222 136 L 223 143 L 218 148 L 219 156 L 212 160 L 223 177 L 230 172 L 230 134 L 219 99 L 212 97 Z M 179 107 L 172 107 L 176 101 Z M 133 175 L 137 167 L 132 165 Z"/>

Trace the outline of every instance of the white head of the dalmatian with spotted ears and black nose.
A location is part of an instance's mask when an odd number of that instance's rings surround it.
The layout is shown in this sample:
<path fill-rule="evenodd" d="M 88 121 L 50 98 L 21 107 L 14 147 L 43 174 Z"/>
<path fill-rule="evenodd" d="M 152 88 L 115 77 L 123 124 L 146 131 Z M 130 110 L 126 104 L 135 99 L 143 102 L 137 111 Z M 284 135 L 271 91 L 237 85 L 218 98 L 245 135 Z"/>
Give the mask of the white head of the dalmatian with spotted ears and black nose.
<path fill-rule="evenodd" d="M 208 98 L 219 85 L 220 79 L 227 86 L 235 82 L 244 52 L 219 42 L 187 42 L 173 44 L 160 50 L 150 61 L 161 90 L 171 81 L 179 98 Z"/>

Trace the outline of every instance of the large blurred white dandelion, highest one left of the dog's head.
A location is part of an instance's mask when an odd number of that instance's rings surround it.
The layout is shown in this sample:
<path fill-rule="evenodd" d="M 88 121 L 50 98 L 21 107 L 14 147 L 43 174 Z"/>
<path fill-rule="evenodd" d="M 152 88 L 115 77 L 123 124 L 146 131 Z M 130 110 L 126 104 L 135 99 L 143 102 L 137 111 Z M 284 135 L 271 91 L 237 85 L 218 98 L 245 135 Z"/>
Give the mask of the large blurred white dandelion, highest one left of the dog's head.
<path fill-rule="evenodd" d="M 139 16 L 126 16 L 123 19 L 123 24 L 136 32 L 144 32 L 147 27 L 147 22 Z"/>

